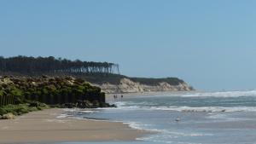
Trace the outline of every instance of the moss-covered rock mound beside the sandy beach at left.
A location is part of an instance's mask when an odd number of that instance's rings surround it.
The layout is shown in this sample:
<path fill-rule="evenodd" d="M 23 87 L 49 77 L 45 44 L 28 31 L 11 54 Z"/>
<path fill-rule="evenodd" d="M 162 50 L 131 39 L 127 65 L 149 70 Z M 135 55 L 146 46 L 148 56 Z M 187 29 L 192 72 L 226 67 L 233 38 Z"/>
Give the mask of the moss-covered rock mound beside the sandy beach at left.
<path fill-rule="evenodd" d="M 105 104 L 105 94 L 100 88 L 73 77 L 0 77 L 0 107 L 40 101 L 49 105 L 97 101 Z M 96 106 L 97 107 L 97 106 Z"/>

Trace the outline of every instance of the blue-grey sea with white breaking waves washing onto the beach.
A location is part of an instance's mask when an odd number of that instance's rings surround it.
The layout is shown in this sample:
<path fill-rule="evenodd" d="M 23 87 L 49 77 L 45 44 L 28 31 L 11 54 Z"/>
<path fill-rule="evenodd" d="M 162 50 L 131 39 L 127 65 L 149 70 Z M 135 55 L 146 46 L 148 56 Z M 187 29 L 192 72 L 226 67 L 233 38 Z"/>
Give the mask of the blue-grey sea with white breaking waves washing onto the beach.
<path fill-rule="evenodd" d="M 69 115 L 155 132 L 124 144 L 256 143 L 256 90 L 132 95 L 109 102 L 118 107 L 73 110 Z"/>

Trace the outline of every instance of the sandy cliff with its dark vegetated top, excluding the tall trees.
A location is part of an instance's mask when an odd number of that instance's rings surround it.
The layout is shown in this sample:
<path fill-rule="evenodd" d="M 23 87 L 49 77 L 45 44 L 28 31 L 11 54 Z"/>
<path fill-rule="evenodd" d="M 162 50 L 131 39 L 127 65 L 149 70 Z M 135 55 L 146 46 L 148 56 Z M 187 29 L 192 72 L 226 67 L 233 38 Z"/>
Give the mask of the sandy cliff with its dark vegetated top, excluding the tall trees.
<path fill-rule="evenodd" d="M 2 73 L 2 75 L 13 75 L 16 77 L 38 78 L 42 74 L 50 77 L 73 77 L 99 87 L 104 93 L 144 93 L 144 92 L 165 92 L 165 91 L 190 91 L 195 90 L 189 84 L 179 78 L 129 78 L 119 74 L 63 74 L 63 73 L 40 73 L 20 74 Z M 1 72 L 0 72 L 1 75 Z"/>

